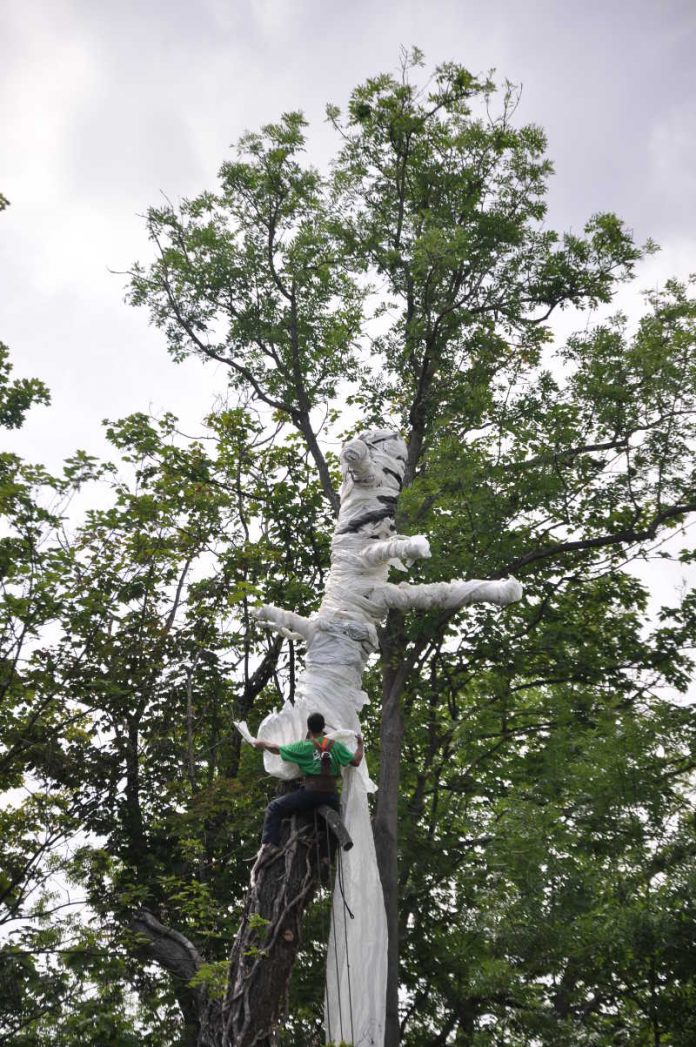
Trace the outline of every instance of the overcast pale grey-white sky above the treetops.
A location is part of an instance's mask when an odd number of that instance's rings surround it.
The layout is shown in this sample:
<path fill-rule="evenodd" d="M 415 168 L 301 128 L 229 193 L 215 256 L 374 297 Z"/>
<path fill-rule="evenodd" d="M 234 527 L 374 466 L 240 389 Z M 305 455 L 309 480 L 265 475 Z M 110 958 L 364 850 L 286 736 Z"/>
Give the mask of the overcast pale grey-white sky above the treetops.
<path fill-rule="evenodd" d="M 14 440 L 50 466 L 103 453 L 105 417 L 194 426 L 224 388 L 124 305 L 109 270 L 147 255 L 138 216 L 212 186 L 239 135 L 288 109 L 322 162 L 324 103 L 395 69 L 401 45 L 523 84 L 554 225 L 614 209 L 663 245 L 641 286 L 696 269 L 694 0 L 6 0 L 2 23 L 0 339 L 52 391 Z"/>

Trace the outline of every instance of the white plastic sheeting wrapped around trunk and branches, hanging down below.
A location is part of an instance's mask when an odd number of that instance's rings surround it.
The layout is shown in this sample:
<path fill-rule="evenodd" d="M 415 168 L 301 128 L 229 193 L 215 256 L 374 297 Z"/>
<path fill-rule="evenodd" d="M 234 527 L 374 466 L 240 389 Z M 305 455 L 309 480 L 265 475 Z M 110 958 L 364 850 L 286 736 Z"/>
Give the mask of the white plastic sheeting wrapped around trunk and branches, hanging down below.
<path fill-rule="evenodd" d="M 269 628 L 307 644 L 297 698 L 263 720 L 260 738 L 278 744 L 304 738 L 308 715 L 319 712 L 330 736 L 353 739 L 354 744 L 359 713 L 368 700 L 362 673 L 378 649 L 377 626 L 390 607 L 454 608 L 481 601 L 503 606 L 520 598 L 521 586 L 514 579 L 431 585 L 388 582 L 390 566 L 405 570 L 404 563 L 430 555 L 427 538 L 396 534 L 394 515 L 405 463 L 406 445 L 388 430 L 369 430 L 345 444 L 331 571 L 318 612 L 307 619 L 272 605 L 255 611 Z M 264 763 L 277 778 L 299 773 L 271 753 L 264 754 Z M 334 892 L 325 1031 L 328 1040 L 343 1039 L 354 1047 L 384 1043 L 387 929 L 367 805 L 367 794 L 375 788 L 366 760 L 357 770 L 345 768 L 343 820 L 355 846 L 341 854 Z M 345 910 L 343 894 L 354 919 Z"/>

